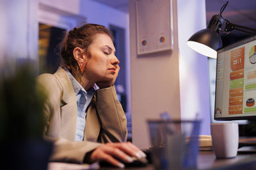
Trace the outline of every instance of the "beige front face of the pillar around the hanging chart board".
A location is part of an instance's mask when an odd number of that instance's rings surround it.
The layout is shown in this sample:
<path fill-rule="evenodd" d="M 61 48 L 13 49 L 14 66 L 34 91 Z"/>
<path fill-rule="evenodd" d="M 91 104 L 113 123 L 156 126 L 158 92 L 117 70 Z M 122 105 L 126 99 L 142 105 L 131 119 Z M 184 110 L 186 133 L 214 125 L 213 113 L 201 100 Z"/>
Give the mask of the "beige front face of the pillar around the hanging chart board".
<path fill-rule="evenodd" d="M 159 113 L 164 111 L 168 111 L 173 118 L 180 118 L 177 17 L 173 20 L 173 51 L 138 57 L 135 5 L 136 0 L 129 1 L 132 142 L 139 148 L 147 148 L 148 118 L 158 118 Z"/>

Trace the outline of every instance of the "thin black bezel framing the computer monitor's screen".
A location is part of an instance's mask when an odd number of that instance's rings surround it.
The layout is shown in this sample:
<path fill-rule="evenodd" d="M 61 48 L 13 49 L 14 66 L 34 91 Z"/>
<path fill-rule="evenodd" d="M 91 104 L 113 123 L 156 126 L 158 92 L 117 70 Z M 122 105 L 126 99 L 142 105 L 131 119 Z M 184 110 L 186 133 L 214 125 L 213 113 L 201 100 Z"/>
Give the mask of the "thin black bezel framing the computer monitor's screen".
<path fill-rule="evenodd" d="M 232 48 L 236 48 L 237 46 L 246 44 L 246 43 L 250 43 L 251 41 L 255 41 L 256 40 L 256 35 L 255 36 L 250 36 L 249 38 L 244 38 L 241 39 L 235 43 L 232 43 L 231 45 L 225 46 L 223 48 L 219 48 L 217 50 L 217 59 L 216 59 L 216 70 L 218 70 L 218 53 L 223 52 L 223 51 L 227 51 L 230 50 Z M 216 78 L 217 78 L 217 71 L 216 71 Z M 256 119 L 256 114 L 254 116 L 237 116 L 237 117 L 218 117 L 216 118 L 215 115 L 215 108 L 216 108 L 216 89 L 217 89 L 217 85 L 216 85 L 217 81 L 215 82 L 215 99 L 214 99 L 214 120 L 252 120 L 252 119 Z"/>

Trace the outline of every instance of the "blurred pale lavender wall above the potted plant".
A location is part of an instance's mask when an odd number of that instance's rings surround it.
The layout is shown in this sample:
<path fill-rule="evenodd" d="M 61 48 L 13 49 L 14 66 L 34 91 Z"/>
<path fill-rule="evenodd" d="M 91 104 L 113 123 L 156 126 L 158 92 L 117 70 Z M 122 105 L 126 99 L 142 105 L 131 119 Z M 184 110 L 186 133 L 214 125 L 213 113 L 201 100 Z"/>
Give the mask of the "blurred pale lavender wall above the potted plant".
<path fill-rule="evenodd" d="M 36 7 L 33 0 L 1 1 L 0 66 L 6 59 L 37 60 Z"/>

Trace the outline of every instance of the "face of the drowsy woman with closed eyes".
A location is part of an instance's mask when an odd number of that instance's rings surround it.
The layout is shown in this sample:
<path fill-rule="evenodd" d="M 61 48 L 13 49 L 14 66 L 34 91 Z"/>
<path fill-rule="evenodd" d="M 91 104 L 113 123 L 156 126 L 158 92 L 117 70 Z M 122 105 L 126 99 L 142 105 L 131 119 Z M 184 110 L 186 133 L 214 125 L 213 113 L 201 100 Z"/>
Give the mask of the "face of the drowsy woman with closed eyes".
<path fill-rule="evenodd" d="M 86 78 L 96 82 L 112 81 L 119 60 L 115 56 L 115 46 L 107 34 L 97 34 L 89 47 L 91 56 L 86 62 Z"/>

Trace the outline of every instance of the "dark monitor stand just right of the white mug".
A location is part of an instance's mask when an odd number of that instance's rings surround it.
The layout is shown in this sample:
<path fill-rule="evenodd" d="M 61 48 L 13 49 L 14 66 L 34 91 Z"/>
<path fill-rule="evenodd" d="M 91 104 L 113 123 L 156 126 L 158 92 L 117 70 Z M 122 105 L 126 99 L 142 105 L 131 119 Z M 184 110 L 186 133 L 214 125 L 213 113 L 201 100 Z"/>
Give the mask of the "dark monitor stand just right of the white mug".
<path fill-rule="evenodd" d="M 239 137 L 238 153 L 256 153 L 256 137 Z"/>

